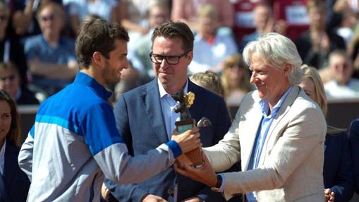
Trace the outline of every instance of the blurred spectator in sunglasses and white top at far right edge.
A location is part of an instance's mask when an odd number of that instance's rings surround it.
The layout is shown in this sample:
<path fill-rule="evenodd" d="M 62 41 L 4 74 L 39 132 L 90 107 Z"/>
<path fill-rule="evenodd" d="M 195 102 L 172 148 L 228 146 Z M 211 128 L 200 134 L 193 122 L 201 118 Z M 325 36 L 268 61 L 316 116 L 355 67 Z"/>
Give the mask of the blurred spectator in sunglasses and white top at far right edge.
<path fill-rule="evenodd" d="M 359 80 L 352 78 L 353 62 L 342 50 L 336 50 L 329 55 L 331 81 L 324 84 L 328 100 L 332 98 L 359 97 Z"/>

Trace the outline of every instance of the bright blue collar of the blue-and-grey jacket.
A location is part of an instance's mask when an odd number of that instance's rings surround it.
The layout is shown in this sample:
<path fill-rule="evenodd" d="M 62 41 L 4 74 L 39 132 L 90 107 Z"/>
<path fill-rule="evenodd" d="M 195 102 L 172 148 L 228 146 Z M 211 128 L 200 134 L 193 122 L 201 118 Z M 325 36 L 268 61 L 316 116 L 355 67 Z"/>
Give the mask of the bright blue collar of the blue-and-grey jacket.
<path fill-rule="evenodd" d="M 93 88 L 95 92 L 104 100 L 109 99 L 109 97 L 112 95 L 112 93 L 106 90 L 103 85 L 99 84 L 95 78 L 92 78 L 83 72 L 78 73 L 73 83 L 87 85 L 90 88 Z"/>

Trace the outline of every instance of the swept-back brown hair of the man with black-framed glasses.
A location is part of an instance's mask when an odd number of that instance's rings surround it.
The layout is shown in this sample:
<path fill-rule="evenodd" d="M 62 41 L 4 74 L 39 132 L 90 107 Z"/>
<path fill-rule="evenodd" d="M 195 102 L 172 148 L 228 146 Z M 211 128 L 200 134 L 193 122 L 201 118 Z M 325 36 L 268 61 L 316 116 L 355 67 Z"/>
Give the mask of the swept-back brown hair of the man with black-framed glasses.
<path fill-rule="evenodd" d="M 193 32 L 188 25 L 180 21 L 170 21 L 155 28 L 152 33 L 152 46 L 156 37 L 165 37 L 169 39 L 179 38 L 182 41 L 182 48 L 185 52 L 193 50 L 193 40 L 195 39 Z"/>

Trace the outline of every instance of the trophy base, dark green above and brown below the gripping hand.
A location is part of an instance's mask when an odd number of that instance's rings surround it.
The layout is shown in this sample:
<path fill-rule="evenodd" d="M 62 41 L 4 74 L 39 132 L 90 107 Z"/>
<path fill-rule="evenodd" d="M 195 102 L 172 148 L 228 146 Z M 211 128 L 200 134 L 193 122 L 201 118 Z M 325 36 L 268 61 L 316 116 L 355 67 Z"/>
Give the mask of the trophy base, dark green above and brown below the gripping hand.
<path fill-rule="evenodd" d="M 193 129 L 195 126 L 195 119 L 176 121 L 175 124 L 178 133 L 183 133 L 187 130 Z M 202 148 L 198 147 L 194 150 L 190 150 L 189 152 L 180 155 L 177 160 L 181 164 L 191 165 L 193 167 L 201 167 L 203 165 Z"/>

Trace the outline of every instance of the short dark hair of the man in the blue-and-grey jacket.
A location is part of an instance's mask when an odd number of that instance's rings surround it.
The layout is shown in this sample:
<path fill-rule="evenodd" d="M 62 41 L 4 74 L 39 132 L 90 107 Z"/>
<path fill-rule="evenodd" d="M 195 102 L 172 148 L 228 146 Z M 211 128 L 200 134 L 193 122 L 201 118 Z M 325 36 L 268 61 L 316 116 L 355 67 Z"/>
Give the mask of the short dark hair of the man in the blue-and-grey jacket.
<path fill-rule="evenodd" d="M 80 69 L 88 69 L 94 52 L 109 58 L 109 53 L 116 48 L 116 40 L 130 40 L 127 31 L 118 23 L 109 23 L 99 18 L 84 20 L 75 45 Z"/>

